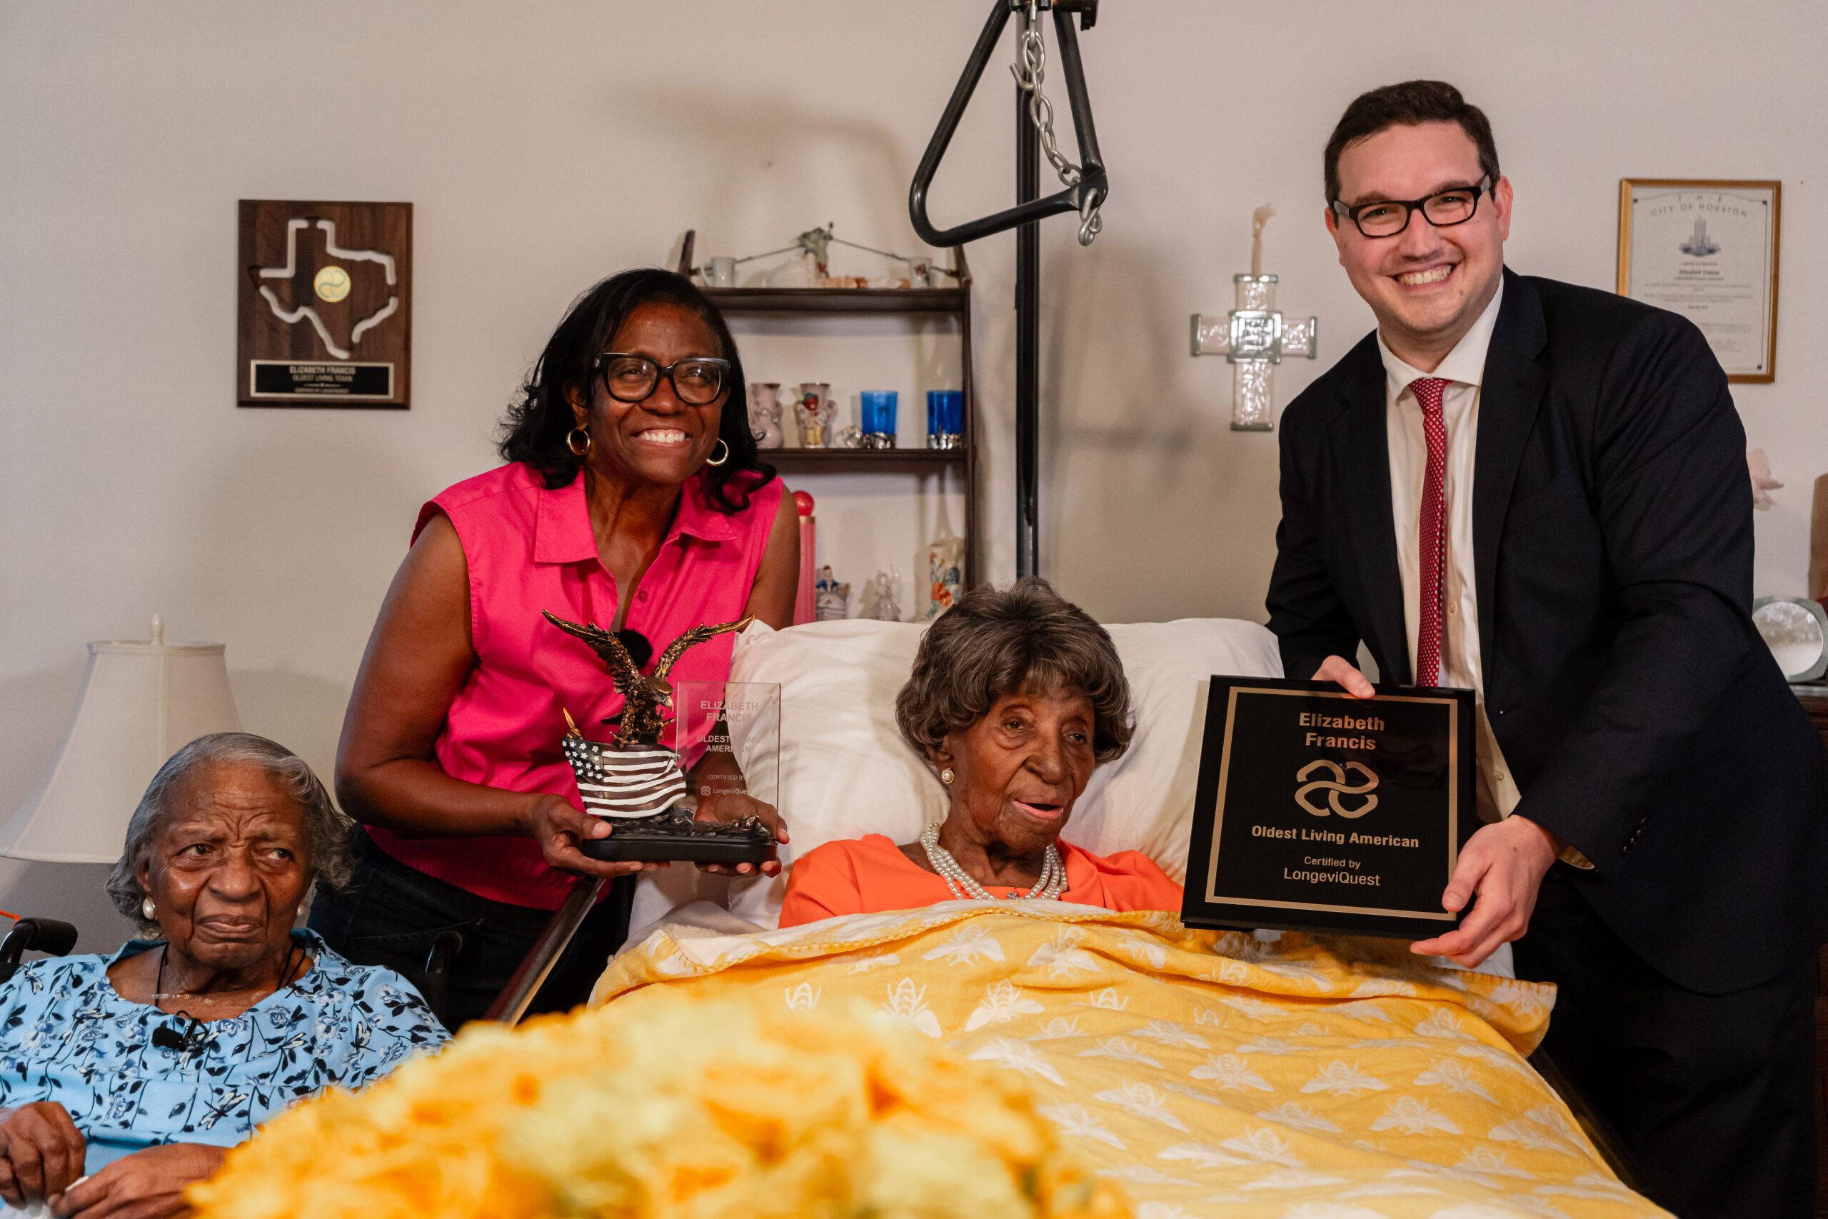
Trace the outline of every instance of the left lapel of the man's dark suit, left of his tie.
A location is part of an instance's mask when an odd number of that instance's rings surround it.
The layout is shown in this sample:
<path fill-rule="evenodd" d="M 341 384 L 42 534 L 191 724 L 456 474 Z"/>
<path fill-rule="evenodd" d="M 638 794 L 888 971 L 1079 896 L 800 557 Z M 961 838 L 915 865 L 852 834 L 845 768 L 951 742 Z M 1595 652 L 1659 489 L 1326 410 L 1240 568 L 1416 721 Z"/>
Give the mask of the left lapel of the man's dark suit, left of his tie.
<path fill-rule="evenodd" d="M 1397 568 L 1397 526 L 1389 506 L 1389 435 L 1384 409 L 1384 360 L 1376 334 L 1347 355 L 1355 362 L 1344 378 L 1345 409 L 1333 420 L 1334 462 L 1342 472 L 1345 526 L 1364 579 L 1380 678 L 1408 685 L 1409 632 L 1402 610 L 1402 574 Z M 1347 660 L 1353 660 L 1347 656 Z"/>

